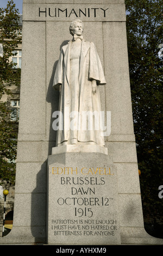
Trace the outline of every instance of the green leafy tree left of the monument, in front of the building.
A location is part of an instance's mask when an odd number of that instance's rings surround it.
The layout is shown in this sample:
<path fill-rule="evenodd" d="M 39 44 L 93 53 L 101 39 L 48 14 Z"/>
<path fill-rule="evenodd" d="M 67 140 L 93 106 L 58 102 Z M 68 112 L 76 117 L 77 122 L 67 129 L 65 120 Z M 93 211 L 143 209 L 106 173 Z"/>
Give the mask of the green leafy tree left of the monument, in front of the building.
<path fill-rule="evenodd" d="M 0 45 L 3 51 L 0 57 L 0 180 L 10 184 L 15 182 L 16 138 L 13 123 L 9 121 L 10 111 L 7 102 L 2 101 L 4 94 L 11 95 L 10 86 L 20 86 L 20 69 L 9 62 L 12 51 L 21 43 L 18 34 L 18 10 L 14 1 L 8 1 L 6 8 L 0 8 Z"/>

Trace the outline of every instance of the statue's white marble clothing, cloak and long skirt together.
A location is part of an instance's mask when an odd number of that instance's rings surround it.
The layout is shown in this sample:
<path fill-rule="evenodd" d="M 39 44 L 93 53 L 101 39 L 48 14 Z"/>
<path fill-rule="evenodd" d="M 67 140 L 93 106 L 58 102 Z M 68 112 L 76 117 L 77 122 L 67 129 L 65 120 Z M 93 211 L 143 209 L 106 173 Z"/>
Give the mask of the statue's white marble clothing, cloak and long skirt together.
<path fill-rule="evenodd" d="M 100 123 L 101 103 L 99 86 L 106 84 L 105 76 L 96 47 L 93 42 L 82 41 L 80 47 L 77 85 L 73 80 L 70 51 L 72 41 L 61 48 L 57 68 L 55 70 L 53 88 L 60 88 L 59 125 L 57 130 L 57 146 L 65 144 L 98 144 L 104 146 L 103 129 Z M 74 68 L 74 72 L 76 69 Z M 96 93 L 92 92 L 92 80 L 97 82 Z M 74 86 L 78 87 L 77 93 Z M 72 101 L 77 103 L 73 106 Z M 96 118 L 95 118 L 95 115 Z M 92 118 L 93 117 L 93 118 Z M 85 126 L 85 121 L 87 121 Z M 90 122 L 88 124 L 88 122 Z M 89 127 L 88 127 L 89 126 Z M 85 129 L 86 127 L 86 129 Z"/>

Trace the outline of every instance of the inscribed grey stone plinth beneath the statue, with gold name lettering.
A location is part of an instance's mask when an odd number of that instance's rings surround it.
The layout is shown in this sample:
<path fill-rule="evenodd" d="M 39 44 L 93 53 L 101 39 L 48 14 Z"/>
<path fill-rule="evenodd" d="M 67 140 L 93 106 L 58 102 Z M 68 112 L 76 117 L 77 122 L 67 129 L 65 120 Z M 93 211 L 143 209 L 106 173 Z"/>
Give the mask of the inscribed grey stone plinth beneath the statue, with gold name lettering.
<path fill-rule="evenodd" d="M 47 243 L 118 245 L 117 172 L 101 153 L 48 157 Z"/>

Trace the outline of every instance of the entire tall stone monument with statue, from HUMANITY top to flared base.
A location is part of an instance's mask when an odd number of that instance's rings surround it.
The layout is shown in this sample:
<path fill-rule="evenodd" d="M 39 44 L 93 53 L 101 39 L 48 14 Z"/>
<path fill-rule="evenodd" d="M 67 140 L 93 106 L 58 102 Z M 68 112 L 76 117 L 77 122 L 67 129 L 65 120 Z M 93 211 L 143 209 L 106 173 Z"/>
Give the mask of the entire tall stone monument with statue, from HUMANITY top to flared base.
<path fill-rule="evenodd" d="M 94 128 L 78 133 L 88 110 Z M 0 243 L 162 244 L 143 227 L 124 0 L 23 0 L 14 223 Z"/>

